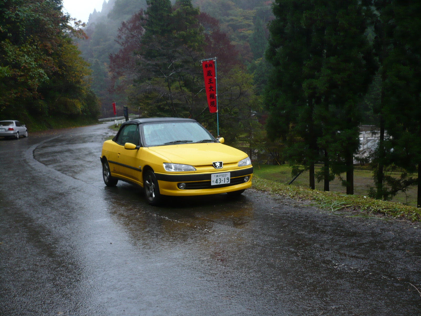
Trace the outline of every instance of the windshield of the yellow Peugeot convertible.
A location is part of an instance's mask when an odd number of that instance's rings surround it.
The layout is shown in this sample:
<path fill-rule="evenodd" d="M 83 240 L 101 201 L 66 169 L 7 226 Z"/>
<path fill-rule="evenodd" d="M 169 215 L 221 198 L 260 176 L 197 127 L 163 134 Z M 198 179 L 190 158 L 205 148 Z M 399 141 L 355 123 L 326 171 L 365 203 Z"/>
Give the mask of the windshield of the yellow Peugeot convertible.
<path fill-rule="evenodd" d="M 145 147 L 215 142 L 209 132 L 197 122 L 157 122 L 143 124 Z"/>

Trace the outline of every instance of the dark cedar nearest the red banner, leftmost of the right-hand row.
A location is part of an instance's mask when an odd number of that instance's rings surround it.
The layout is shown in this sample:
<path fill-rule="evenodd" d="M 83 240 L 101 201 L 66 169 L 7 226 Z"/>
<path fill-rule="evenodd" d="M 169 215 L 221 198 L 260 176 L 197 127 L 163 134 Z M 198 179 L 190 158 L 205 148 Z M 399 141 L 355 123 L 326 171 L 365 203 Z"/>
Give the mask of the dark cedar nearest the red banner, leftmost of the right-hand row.
<path fill-rule="evenodd" d="M 269 24 L 266 52 L 267 60 L 274 67 L 265 101 L 270 112 L 266 125 L 269 137 L 283 139 L 288 159 L 309 169 L 309 186 L 314 189 L 314 162 L 319 160 L 319 135 L 314 126 L 315 95 L 303 87 L 317 72 L 306 65 L 311 63 L 312 55 L 320 55 L 320 48 L 312 45 L 312 27 L 303 24 L 304 14 L 311 11 L 314 11 L 311 1 L 275 1 L 275 19 Z"/>

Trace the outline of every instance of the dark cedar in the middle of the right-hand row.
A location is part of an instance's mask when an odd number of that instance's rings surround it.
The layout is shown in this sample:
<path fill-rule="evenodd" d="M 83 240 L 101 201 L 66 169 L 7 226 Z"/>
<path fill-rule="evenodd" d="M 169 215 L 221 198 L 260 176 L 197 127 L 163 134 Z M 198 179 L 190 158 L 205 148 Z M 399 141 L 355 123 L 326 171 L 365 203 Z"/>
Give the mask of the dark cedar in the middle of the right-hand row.
<path fill-rule="evenodd" d="M 370 2 L 321 1 L 316 15 L 323 25 L 325 56 L 320 76 L 312 84 L 321 97 L 323 136 L 318 145 L 328 151 L 333 174 L 346 172 L 346 193 L 354 194 L 354 153 L 359 148 L 360 104 L 377 70 L 365 32 L 371 19 Z M 320 12 L 322 14 L 320 14 Z M 325 170 L 325 177 L 329 177 Z M 325 181 L 326 182 L 326 181 Z"/>

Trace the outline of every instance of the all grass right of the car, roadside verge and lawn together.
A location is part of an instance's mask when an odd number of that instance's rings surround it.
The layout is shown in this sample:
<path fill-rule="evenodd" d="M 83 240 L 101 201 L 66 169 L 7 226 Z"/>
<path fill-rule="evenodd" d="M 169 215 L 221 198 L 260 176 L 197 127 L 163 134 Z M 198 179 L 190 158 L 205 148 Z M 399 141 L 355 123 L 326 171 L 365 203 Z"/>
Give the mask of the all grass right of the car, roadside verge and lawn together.
<path fill-rule="evenodd" d="M 421 209 L 414 206 L 403 205 L 396 201 L 380 201 L 364 197 L 368 190 L 367 186 L 373 184 L 370 170 L 355 170 L 355 195 L 346 195 L 344 194 L 345 188 L 341 186 L 338 179 L 330 182 L 330 192 L 323 192 L 322 182 L 316 184 L 316 190 L 307 188 L 308 173 L 301 174 L 293 182 L 293 185 L 286 185 L 292 179 L 291 169 L 288 165 L 256 166 L 255 164 L 254 167 L 253 187 L 257 190 L 288 196 L 293 199 L 314 201 L 322 208 L 329 209 L 334 213 L 339 210 L 353 211 L 348 215 L 344 214 L 347 216 L 370 217 L 373 214 L 384 214 L 386 217 L 404 217 L 412 221 L 421 220 Z M 408 201 L 415 205 L 416 189 L 412 190 L 415 194 L 411 194 Z M 401 196 L 396 198 L 396 200 L 398 199 L 403 198 Z"/>

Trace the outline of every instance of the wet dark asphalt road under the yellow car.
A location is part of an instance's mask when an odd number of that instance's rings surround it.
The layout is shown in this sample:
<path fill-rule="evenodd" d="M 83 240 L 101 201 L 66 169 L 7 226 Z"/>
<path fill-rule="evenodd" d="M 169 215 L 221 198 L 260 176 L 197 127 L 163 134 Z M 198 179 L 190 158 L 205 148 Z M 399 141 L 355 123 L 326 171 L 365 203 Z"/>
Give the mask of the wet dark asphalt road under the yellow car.
<path fill-rule="evenodd" d="M 106 124 L 0 139 L 0 315 L 421 315 L 421 225 L 105 187 Z"/>

